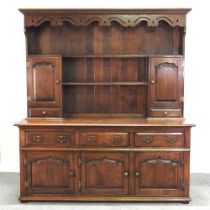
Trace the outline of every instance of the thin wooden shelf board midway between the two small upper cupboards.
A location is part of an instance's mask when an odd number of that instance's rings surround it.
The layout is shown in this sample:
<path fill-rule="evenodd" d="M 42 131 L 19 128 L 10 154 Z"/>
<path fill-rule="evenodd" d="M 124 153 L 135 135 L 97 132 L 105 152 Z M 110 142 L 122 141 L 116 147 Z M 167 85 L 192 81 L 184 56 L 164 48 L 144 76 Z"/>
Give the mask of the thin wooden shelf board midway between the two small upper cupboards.
<path fill-rule="evenodd" d="M 124 86 L 131 86 L 131 85 L 148 85 L 148 82 L 63 82 L 63 86 L 73 86 L 73 85 L 85 85 L 85 86 L 95 86 L 95 85 L 124 85 Z"/>

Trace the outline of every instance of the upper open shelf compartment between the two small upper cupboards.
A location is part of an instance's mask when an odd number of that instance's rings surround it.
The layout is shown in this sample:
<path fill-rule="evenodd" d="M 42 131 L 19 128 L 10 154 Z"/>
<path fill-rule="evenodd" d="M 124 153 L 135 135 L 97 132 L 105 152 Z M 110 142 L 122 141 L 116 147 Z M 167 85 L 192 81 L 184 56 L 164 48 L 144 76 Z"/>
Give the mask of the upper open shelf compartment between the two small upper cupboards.
<path fill-rule="evenodd" d="M 63 58 L 63 85 L 147 85 L 147 58 Z"/>

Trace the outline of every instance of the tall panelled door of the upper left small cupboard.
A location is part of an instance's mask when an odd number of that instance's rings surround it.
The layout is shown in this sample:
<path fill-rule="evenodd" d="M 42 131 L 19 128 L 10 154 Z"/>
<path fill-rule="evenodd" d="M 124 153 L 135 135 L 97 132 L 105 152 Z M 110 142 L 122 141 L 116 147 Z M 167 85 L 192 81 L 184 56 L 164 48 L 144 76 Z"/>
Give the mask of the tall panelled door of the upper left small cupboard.
<path fill-rule="evenodd" d="M 59 107 L 61 105 L 61 57 L 29 56 L 28 105 L 30 107 Z"/>

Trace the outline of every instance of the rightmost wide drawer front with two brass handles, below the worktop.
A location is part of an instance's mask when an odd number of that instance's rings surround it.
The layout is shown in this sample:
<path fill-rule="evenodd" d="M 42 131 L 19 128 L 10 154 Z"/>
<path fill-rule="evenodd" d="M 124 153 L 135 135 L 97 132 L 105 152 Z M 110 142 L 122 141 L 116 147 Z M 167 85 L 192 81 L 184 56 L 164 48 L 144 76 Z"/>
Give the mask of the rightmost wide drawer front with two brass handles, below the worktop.
<path fill-rule="evenodd" d="M 183 133 L 136 133 L 135 146 L 141 147 L 183 147 Z"/>

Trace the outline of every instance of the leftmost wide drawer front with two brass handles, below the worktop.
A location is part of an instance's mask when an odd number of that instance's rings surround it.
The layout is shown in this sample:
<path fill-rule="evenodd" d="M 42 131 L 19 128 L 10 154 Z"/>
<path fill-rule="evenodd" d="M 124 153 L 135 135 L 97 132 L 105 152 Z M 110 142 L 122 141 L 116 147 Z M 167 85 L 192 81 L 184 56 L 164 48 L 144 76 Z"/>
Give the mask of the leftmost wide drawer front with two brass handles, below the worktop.
<path fill-rule="evenodd" d="M 26 132 L 27 146 L 72 146 L 74 134 L 69 132 L 36 131 Z"/>

